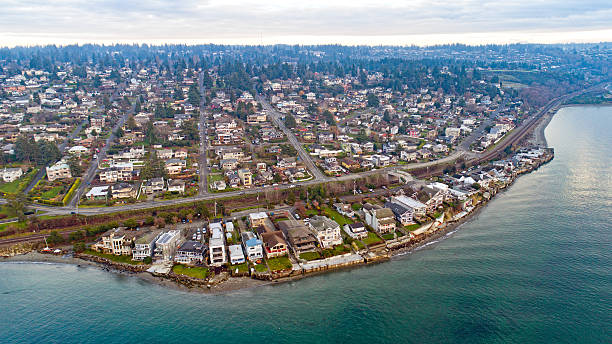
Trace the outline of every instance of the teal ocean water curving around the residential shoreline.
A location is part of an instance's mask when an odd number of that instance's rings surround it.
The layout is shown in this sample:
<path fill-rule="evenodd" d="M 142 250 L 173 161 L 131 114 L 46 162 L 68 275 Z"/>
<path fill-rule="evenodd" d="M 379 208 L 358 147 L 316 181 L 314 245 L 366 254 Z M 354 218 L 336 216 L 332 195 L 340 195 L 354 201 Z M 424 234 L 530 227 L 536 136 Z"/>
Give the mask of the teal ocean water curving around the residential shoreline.
<path fill-rule="evenodd" d="M 1 343 L 611 343 L 612 107 L 562 109 L 556 157 L 445 240 L 227 295 L 0 264 Z"/>

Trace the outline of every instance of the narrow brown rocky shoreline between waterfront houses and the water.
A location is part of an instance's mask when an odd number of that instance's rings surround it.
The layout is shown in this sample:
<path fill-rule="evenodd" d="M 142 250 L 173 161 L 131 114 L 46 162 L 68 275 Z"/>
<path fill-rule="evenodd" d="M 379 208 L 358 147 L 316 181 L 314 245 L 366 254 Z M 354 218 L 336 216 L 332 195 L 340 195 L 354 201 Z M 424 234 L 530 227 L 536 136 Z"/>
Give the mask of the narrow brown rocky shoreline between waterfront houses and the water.
<path fill-rule="evenodd" d="M 542 117 L 538 126 L 534 129 L 530 141 L 538 145 L 546 145 L 544 138 L 544 130 L 554 114 L 546 115 Z M 351 268 L 355 266 L 378 263 L 389 259 L 397 259 L 401 256 L 420 250 L 426 246 L 440 241 L 441 239 L 448 237 L 452 233 L 456 232 L 466 222 L 474 219 L 480 211 L 489 203 L 489 201 L 499 192 L 506 190 L 511 186 L 514 181 L 524 173 L 530 173 L 541 165 L 548 163 L 552 160 L 554 154 L 550 154 L 546 159 L 540 161 L 538 164 L 530 166 L 527 169 L 520 170 L 511 179 L 509 183 L 494 190 L 491 198 L 488 200 L 482 200 L 476 206 L 468 212 L 465 216 L 432 225 L 431 228 L 427 229 L 424 233 L 417 235 L 414 239 L 408 240 L 409 237 L 404 237 L 403 241 L 395 242 L 383 242 L 378 245 L 376 249 L 368 249 L 358 252 L 359 258 L 348 260 L 343 263 L 324 265 L 323 267 L 312 268 L 310 270 L 287 270 L 274 272 L 265 276 L 251 276 L 251 277 L 231 277 L 229 273 L 223 272 L 225 275 L 218 275 L 214 278 L 200 280 L 183 275 L 176 275 L 169 273 L 165 275 L 149 273 L 147 272 L 148 265 L 129 265 L 122 264 L 113 261 L 109 261 L 105 258 L 75 254 L 75 255 L 53 255 L 43 254 L 31 249 L 27 253 L 16 254 L 8 258 L 0 259 L 0 262 L 42 262 L 42 263 L 57 263 L 57 264 L 73 264 L 77 266 L 87 266 L 100 268 L 105 271 L 113 273 L 119 273 L 127 276 L 134 276 L 142 280 L 148 281 L 153 284 L 157 284 L 163 287 L 169 287 L 182 291 L 200 292 L 207 294 L 222 294 L 232 291 L 245 290 L 250 288 L 261 287 L 264 285 L 279 284 L 284 282 L 295 281 L 305 277 L 318 275 L 321 273 L 332 272 L 338 269 Z M 24 251 L 28 251 L 25 250 Z"/>

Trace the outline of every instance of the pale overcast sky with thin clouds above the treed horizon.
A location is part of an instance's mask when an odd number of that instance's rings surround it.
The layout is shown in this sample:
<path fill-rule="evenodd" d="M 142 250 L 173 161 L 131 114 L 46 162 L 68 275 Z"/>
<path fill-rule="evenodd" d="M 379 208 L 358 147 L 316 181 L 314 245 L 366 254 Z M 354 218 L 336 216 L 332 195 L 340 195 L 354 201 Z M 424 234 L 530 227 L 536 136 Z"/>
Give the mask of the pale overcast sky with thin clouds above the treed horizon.
<path fill-rule="evenodd" d="M 612 41 L 612 0 L 0 0 L 0 46 Z"/>

